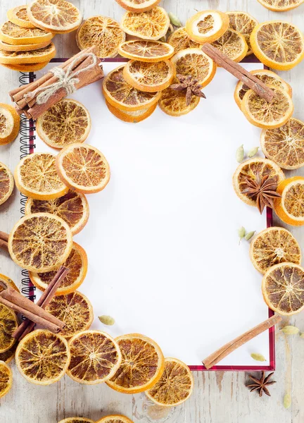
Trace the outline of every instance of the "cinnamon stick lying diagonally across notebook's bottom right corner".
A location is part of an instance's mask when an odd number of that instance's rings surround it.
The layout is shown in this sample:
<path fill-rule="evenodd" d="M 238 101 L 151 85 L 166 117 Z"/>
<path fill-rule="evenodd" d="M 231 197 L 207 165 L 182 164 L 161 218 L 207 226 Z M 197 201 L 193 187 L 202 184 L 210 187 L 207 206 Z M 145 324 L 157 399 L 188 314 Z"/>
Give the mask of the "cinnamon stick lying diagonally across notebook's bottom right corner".
<path fill-rule="evenodd" d="M 230 341 L 229 343 L 223 345 L 219 350 L 210 354 L 205 358 L 205 360 L 203 360 L 203 365 L 206 369 L 210 369 L 224 357 L 227 357 L 227 355 L 241 347 L 241 345 L 255 338 L 255 336 L 260 335 L 260 333 L 267 331 L 267 329 L 270 329 L 272 326 L 279 323 L 279 321 L 281 321 L 281 316 L 279 316 L 279 314 L 275 314 L 270 317 L 270 319 L 262 321 L 262 323 L 258 324 L 258 326 L 255 326 L 253 329 L 250 329 L 250 331 L 243 333 L 241 336 L 238 336 L 233 341 Z"/>

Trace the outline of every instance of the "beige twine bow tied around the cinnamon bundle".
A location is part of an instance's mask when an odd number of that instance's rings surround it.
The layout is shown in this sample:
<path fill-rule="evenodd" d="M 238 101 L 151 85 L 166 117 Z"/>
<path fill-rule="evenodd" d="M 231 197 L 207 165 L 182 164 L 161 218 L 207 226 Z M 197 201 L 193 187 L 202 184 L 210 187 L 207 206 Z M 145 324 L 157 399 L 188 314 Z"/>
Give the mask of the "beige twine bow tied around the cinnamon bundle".
<path fill-rule="evenodd" d="M 80 71 L 73 72 L 73 68 L 75 66 L 83 61 L 83 59 L 87 59 L 87 57 L 91 57 L 92 63 L 90 63 L 88 66 L 86 66 L 83 69 L 80 69 Z M 52 68 L 49 72 L 53 73 L 53 75 L 58 79 L 58 81 L 54 82 L 53 84 L 49 85 L 48 87 L 39 87 L 34 92 L 30 93 L 30 97 L 36 97 L 36 104 L 45 104 L 49 98 L 55 94 L 58 90 L 61 88 L 64 88 L 67 95 L 72 94 L 77 90 L 75 85 L 80 82 L 80 79 L 77 78 L 78 75 L 82 72 L 89 71 L 89 69 L 94 68 L 97 63 L 97 58 L 94 53 L 84 53 L 78 56 L 76 59 L 70 63 L 70 66 L 68 66 L 67 70 L 64 71 L 63 68 Z M 28 94 L 27 94 L 28 95 Z"/>

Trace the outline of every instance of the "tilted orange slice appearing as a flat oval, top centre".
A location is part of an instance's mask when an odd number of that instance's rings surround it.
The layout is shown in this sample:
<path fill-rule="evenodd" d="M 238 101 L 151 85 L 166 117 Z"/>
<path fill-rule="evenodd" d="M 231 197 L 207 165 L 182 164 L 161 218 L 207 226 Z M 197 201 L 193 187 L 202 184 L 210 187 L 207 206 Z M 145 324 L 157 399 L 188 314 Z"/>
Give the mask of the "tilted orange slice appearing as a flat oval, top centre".
<path fill-rule="evenodd" d="M 149 63 L 170 59 L 174 52 L 175 49 L 167 42 L 146 39 L 132 39 L 118 47 L 120 56 Z"/>

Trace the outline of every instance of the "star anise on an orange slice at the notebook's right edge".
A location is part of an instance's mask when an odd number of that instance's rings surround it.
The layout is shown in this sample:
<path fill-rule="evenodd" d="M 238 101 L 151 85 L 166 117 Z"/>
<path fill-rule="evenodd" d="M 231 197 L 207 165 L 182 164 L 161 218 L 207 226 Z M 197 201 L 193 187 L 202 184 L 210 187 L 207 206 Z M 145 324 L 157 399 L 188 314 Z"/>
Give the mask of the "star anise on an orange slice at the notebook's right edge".
<path fill-rule="evenodd" d="M 264 207 L 274 207 L 274 198 L 281 197 L 277 193 L 277 180 L 265 175 L 260 178 L 260 174 L 255 175 L 255 179 L 246 178 L 246 188 L 242 193 L 247 195 L 252 200 L 256 201 L 260 214 Z"/>

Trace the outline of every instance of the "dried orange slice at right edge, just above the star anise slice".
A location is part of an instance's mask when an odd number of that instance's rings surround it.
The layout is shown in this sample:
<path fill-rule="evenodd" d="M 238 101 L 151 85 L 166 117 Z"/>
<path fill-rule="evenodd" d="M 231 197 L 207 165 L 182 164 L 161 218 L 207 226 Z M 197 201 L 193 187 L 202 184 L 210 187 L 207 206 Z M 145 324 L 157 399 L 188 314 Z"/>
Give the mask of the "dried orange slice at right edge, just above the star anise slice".
<path fill-rule="evenodd" d="M 304 123 L 290 118 L 276 129 L 264 129 L 260 136 L 262 152 L 281 168 L 298 169 L 304 165 Z"/>

